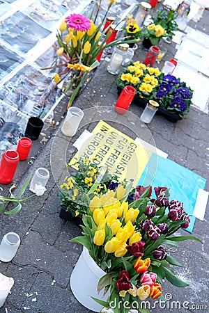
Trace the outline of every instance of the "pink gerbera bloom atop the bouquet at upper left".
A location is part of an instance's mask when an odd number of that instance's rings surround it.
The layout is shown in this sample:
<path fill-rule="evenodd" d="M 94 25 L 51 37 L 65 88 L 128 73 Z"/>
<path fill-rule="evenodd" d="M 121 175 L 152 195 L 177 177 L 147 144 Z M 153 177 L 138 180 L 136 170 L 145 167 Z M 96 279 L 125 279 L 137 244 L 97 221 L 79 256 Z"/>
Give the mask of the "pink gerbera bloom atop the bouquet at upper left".
<path fill-rule="evenodd" d="M 70 29 L 75 31 L 88 31 L 91 27 L 90 19 L 80 14 L 71 14 L 66 17 L 65 23 Z"/>

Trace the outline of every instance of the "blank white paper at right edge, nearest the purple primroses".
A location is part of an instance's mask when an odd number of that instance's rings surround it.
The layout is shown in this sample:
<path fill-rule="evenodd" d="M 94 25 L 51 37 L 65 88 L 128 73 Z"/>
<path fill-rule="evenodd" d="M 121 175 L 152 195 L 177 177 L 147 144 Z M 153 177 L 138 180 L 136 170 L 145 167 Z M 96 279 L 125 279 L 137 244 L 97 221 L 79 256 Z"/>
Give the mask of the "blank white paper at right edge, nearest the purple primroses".
<path fill-rule="evenodd" d="M 209 78 L 180 62 L 178 62 L 173 75 L 179 77 L 181 81 L 185 81 L 187 86 L 194 90 L 192 97 L 193 104 L 202 111 L 208 112 Z M 199 90 L 201 90 L 201 93 Z"/>

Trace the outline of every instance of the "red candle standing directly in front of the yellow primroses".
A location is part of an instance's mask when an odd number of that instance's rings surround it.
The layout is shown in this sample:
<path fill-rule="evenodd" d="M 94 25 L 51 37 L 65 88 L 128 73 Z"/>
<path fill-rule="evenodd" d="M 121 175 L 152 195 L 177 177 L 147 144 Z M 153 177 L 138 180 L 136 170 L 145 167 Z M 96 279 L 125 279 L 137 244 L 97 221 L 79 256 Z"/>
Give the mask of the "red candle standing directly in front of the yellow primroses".
<path fill-rule="evenodd" d="M 115 111 L 120 114 L 124 114 L 129 108 L 132 99 L 134 99 L 136 91 L 132 86 L 125 86 L 122 90 L 118 101 L 116 102 Z"/>

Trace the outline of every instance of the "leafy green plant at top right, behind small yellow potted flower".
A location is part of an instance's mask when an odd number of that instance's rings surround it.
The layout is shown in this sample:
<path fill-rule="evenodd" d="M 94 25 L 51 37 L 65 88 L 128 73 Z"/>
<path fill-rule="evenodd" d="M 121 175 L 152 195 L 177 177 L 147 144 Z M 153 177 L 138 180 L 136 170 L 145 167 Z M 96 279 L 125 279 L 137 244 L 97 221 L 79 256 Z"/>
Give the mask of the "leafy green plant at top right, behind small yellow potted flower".
<path fill-rule="evenodd" d="M 176 23 L 177 12 L 167 6 L 162 6 L 157 10 L 157 16 L 152 17 L 155 25 L 160 24 L 167 31 L 167 36 L 173 38 L 174 31 L 178 31 Z"/>

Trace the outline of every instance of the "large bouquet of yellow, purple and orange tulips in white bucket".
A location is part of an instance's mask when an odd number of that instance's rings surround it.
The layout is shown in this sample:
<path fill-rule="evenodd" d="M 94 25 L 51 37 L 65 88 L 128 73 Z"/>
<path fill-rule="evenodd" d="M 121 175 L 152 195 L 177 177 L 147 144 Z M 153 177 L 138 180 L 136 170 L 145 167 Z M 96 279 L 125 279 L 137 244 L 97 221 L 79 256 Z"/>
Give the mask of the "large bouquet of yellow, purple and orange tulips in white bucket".
<path fill-rule="evenodd" d="M 154 190 L 155 198 L 151 198 L 150 186 L 137 186 L 121 200 L 117 191 L 95 195 L 88 214 L 83 216 L 83 236 L 71 240 L 82 243 L 106 272 L 98 282 L 98 292 L 104 289 L 105 294 L 109 290 L 109 297 L 107 301 L 94 300 L 107 308 L 114 303 L 113 312 L 148 312 L 141 301 L 163 299 L 164 278 L 176 287 L 188 285 L 171 268 L 182 265 L 169 255 L 167 246 L 179 247 L 176 242 L 186 239 L 200 240 L 173 236 L 189 226 L 186 208 L 178 200 L 169 200 L 166 187 Z"/>

